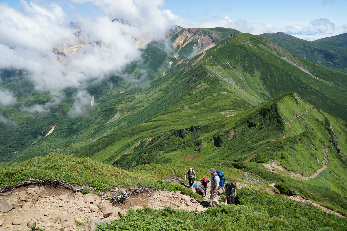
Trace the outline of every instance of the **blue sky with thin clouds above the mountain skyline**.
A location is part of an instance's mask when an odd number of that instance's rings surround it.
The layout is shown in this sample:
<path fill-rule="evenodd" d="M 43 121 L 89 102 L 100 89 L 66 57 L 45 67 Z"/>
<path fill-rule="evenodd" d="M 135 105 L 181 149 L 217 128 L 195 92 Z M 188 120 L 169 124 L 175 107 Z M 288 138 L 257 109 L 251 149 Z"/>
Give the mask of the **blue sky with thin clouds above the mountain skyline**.
<path fill-rule="evenodd" d="M 91 20 L 102 15 L 110 18 L 119 17 L 116 12 L 112 14 L 108 6 L 117 6 L 117 2 L 122 1 L 33 0 L 32 2 L 43 8 L 49 7 L 52 3 L 59 5 L 66 14 L 64 19 L 67 24 L 70 21 L 80 21 L 82 17 Z M 143 9 L 143 5 L 147 4 L 169 12 L 172 14 L 171 19 L 174 18 L 174 23 L 185 28 L 231 27 L 254 35 L 282 31 L 310 41 L 347 32 L 346 0 L 127 0 L 126 2 L 129 3 L 129 8 Z M 10 7 L 20 10 L 19 0 L 7 3 Z M 148 7 L 145 10 L 148 10 L 149 14 L 152 12 Z"/>

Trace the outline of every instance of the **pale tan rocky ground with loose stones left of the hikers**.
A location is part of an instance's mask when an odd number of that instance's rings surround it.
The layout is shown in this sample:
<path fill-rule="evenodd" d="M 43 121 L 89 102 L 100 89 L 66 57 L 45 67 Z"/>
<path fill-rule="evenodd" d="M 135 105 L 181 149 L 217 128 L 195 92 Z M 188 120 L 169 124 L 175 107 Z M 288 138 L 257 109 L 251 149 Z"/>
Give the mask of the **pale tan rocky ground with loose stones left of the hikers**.
<path fill-rule="evenodd" d="M 96 194 L 31 185 L 0 196 L 0 230 L 28 230 L 36 222 L 45 231 L 89 231 L 95 222 L 118 219 L 129 208 L 136 210 L 143 205 L 199 212 L 208 208 L 209 200 L 196 201 L 181 192 L 164 190 L 133 195 L 129 202 L 113 206 Z"/>

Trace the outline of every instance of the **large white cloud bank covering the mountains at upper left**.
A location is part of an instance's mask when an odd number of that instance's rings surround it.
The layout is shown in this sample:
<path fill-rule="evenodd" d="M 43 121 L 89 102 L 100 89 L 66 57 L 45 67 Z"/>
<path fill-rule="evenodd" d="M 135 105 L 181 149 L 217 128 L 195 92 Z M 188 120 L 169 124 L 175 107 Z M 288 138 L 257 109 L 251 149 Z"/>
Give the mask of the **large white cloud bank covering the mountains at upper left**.
<path fill-rule="evenodd" d="M 39 92 L 56 95 L 66 88 L 85 89 L 91 82 L 98 83 L 138 60 L 141 53 L 136 41 L 162 38 L 173 25 L 159 10 L 160 0 L 73 2 L 90 2 L 103 10 L 103 15 L 93 21 L 81 18 L 79 36 L 64 27 L 66 14 L 57 4 L 44 8 L 20 0 L 20 10 L 16 10 L 0 3 L 0 69 L 26 70 L 25 78 Z M 126 23 L 112 22 L 113 18 Z M 0 98 L 2 105 L 16 102 L 5 90 L 0 90 Z M 45 105 L 23 109 L 48 113 L 60 100 L 57 96 Z"/>

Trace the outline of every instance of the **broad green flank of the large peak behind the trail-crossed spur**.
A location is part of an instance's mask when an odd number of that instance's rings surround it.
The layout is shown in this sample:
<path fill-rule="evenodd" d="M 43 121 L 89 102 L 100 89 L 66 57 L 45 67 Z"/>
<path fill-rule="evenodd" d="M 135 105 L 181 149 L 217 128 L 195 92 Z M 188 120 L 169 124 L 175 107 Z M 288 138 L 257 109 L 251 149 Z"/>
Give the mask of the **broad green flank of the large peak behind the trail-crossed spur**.
<path fill-rule="evenodd" d="M 305 101 L 347 119 L 347 74 L 313 64 L 268 39 L 246 33 L 234 35 L 197 60 L 195 57 L 187 65 L 206 65 L 214 75 L 231 78 L 235 86 L 262 101 L 293 91 Z"/>

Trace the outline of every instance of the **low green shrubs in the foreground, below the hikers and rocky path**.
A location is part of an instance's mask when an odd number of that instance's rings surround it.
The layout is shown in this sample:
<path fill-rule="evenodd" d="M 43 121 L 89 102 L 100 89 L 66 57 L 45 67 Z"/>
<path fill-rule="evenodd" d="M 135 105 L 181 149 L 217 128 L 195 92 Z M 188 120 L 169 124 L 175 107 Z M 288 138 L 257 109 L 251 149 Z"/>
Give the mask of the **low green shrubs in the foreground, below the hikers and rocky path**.
<path fill-rule="evenodd" d="M 345 230 L 347 221 L 312 205 L 290 201 L 255 189 L 242 188 L 237 206 L 221 205 L 205 212 L 129 210 L 96 230 Z"/>

